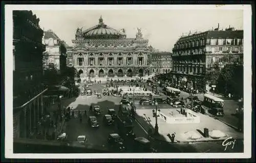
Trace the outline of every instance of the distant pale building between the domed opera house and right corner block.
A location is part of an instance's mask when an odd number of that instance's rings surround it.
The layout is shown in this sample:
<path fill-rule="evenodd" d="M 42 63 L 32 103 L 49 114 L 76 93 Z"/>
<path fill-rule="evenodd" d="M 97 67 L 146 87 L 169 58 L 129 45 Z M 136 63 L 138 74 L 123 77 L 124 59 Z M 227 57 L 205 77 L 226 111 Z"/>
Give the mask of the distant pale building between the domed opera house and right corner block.
<path fill-rule="evenodd" d="M 153 73 L 168 73 L 172 71 L 172 53 L 152 52 L 151 55 Z"/>

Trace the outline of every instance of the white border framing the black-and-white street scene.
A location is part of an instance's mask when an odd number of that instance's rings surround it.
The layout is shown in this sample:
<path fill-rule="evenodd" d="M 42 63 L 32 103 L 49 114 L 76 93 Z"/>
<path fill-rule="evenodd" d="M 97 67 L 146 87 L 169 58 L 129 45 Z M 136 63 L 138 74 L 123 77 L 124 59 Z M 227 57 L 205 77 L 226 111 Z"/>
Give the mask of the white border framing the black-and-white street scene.
<path fill-rule="evenodd" d="M 243 153 L 13 153 L 13 10 L 243 10 L 244 28 L 244 152 Z M 251 157 L 251 6 L 250 5 L 6 5 L 5 6 L 5 157 L 6 158 L 250 158 Z"/>

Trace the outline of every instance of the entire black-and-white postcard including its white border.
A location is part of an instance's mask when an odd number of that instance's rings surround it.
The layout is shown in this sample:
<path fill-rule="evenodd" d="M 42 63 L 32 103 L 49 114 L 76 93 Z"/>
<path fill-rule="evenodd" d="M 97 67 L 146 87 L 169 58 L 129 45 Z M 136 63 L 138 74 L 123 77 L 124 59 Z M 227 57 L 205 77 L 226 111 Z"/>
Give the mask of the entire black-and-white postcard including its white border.
<path fill-rule="evenodd" d="M 250 152 L 250 6 L 8 6 L 13 155 Z"/>

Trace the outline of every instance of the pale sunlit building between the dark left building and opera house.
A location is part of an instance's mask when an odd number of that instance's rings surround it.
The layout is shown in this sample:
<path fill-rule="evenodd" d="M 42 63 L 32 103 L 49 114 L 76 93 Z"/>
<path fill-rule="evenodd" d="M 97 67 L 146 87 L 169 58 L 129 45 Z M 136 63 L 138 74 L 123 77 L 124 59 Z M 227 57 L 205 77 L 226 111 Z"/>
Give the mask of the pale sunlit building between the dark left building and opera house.
<path fill-rule="evenodd" d="M 55 67 L 57 70 L 63 71 L 66 67 L 66 45 L 59 37 L 52 31 L 44 32 L 42 44 L 46 45 L 44 52 L 44 69 L 48 67 Z"/>

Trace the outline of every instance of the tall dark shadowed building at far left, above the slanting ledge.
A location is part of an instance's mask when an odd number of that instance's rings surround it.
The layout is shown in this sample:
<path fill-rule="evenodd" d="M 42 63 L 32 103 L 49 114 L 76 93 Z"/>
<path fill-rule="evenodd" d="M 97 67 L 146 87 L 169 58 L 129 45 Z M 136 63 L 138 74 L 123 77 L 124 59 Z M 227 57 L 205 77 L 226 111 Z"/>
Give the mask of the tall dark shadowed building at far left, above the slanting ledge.
<path fill-rule="evenodd" d="M 13 11 L 14 93 L 25 92 L 27 86 L 40 83 L 45 46 L 41 44 L 43 31 L 38 22 L 32 11 Z"/>

